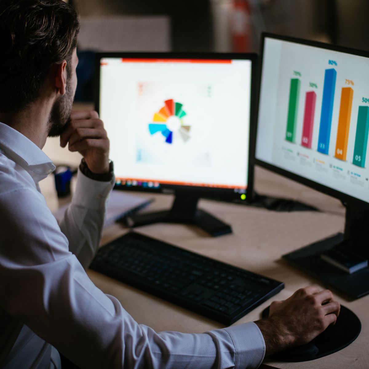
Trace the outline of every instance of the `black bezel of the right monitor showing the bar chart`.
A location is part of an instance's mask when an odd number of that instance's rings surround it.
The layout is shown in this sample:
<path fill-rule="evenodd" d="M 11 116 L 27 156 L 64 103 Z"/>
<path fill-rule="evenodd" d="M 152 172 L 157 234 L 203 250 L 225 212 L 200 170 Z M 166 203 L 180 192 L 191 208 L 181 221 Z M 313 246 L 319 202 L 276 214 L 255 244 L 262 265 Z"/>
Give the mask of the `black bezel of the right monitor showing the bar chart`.
<path fill-rule="evenodd" d="M 344 47 L 344 46 L 326 44 L 324 42 L 311 41 L 311 40 L 307 40 L 307 39 L 277 35 L 277 34 L 273 34 L 273 33 L 269 33 L 269 32 L 263 32 L 262 33 L 262 38 L 261 38 L 261 52 L 260 52 L 260 58 L 259 58 L 258 91 L 257 91 L 257 96 L 256 96 L 256 101 L 257 102 L 256 102 L 256 107 L 255 107 L 256 120 L 255 120 L 255 131 L 254 131 L 254 138 L 253 138 L 254 139 L 254 145 L 253 146 L 255 148 L 255 152 L 252 156 L 252 158 L 254 158 L 254 165 L 259 165 L 259 166 L 261 166 L 265 169 L 268 169 L 272 172 L 275 172 L 279 175 L 282 175 L 282 176 L 287 177 L 289 179 L 292 179 L 296 182 L 304 184 L 305 186 L 311 187 L 314 190 L 317 190 L 317 191 L 325 193 L 329 196 L 335 197 L 338 200 L 341 200 L 341 202 L 345 206 L 347 204 L 353 204 L 353 205 L 356 205 L 356 206 L 360 206 L 361 208 L 365 208 L 365 210 L 369 210 L 369 202 L 366 202 L 364 200 L 358 199 L 358 198 L 353 197 L 351 195 L 345 194 L 345 193 L 340 192 L 338 190 L 332 189 L 331 187 L 325 186 L 324 184 L 314 182 L 311 179 L 307 179 L 307 178 L 302 177 L 300 175 L 297 175 L 295 173 L 289 172 L 288 170 L 282 169 L 278 166 L 275 166 L 273 164 L 265 162 L 262 159 L 256 158 L 256 138 L 257 138 L 257 135 L 258 135 L 259 103 L 260 103 L 260 94 L 261 94 L 261 79 L 262 79 L 262 73 L 263 73 L 262 69 L 263 69 L 263 58 L 264 58 L 264 44 L 265 44 L 265 39 L 266 38 L 272 38 L 272 39 L 277 39 L 277 40 L 287 41 L 287 42 L 294 42 L 296 44 L 314 46 L 314 47 L 318 47 L 318 48 L 322 48 L 322 49 L 344 52 L 346 54 L 363 56 L 363 57 L 366 57 L 366 58 L 369 58 L 369 52 L 363 51 L 363 50 L 347 48 L 347 47 Z"/>

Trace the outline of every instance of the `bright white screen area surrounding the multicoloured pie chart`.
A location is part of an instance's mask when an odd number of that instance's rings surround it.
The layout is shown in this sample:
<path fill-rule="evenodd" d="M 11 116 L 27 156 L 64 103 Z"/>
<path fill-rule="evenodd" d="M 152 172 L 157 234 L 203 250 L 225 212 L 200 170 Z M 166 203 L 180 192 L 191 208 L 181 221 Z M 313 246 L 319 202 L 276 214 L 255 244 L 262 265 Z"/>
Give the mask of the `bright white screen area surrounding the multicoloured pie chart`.
<path fill-rule="evenodd" d="M 251 61 L 102 62 L 100 118 L 118 178 L 247 187 Z M 183 104 L 186 142 L 149 132 L 168 99 Z"/>

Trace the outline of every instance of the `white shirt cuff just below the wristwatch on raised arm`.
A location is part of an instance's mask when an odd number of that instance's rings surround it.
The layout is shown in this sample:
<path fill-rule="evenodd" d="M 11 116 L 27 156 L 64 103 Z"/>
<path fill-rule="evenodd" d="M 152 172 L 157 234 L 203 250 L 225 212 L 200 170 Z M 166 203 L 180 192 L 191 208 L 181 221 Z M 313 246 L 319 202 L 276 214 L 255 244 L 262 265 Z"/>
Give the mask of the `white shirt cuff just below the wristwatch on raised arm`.
<path fill-rule="evenodd" d="M 114 176 L 109 182 L 101 182 L 85 176 L 78 169 L 76 190 L 72 197 L 72 204 L 91 210 L 104 210 L 106 199 L 113 189 L 114 183 Z"/>

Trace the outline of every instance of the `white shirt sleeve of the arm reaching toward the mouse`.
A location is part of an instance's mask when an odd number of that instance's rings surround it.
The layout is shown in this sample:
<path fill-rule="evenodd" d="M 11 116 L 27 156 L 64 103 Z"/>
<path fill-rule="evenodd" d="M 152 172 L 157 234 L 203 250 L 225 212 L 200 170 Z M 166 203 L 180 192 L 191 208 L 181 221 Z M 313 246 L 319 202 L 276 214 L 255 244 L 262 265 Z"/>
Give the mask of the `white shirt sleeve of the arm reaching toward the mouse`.
<path fill-rule="evenodd" d="M 36 190 L 0 196 L 0 305 L 81 368 L 257 368 L 255 323 L 202 334 L 138 324 L 89 279 Z"/>

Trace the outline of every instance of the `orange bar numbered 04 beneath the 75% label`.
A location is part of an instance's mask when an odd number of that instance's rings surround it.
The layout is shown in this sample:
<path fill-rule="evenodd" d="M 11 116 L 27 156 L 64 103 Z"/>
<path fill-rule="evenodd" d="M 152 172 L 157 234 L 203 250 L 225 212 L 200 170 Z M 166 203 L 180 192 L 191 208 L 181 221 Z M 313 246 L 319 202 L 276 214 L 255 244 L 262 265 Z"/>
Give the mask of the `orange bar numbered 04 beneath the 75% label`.
<path fill-rule="evenodd" d="M 341 93 L 341 104 L 339 106 L 339 118 L 337 129 L 336 151 L 337 159 L 346 161 L 348 132 L 350 129 L 352 97 L 354 90 L 351 87 L 343 87 Z"/>

